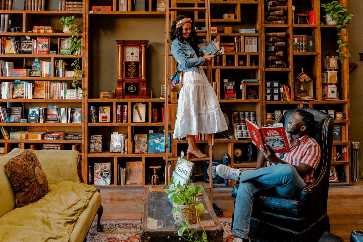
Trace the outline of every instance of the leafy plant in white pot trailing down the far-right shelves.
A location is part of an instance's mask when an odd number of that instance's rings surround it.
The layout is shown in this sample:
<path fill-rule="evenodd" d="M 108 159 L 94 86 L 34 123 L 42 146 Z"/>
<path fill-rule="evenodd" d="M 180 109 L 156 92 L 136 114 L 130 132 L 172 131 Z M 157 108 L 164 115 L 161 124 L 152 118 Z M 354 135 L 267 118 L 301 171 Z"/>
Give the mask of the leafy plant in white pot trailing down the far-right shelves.
<path fill-rule="evenodd" d="M 351 20 L 352 18 L 352 14 L 350 14 L 348 12 L 348 10 L 346 8 L 344 8 L 343 4 L 338 4 L 338 1 L 332 1 L 331 3 L 322 3 L 321 7 L 323 8 L 323 12 L 326 13 L 325 19 L 326 19 L 326 23 L 330 24 L 330 25 L 337 25 L 337 30 L 338 30 L 338 41 L 337 43 L 339 44 L 339 48 L 343 48 L 343 47 L 348 47 L 347 44 L 344 43 L 344 41 L 342 40 L 342 31 L 344 31 L 345 29 L 343 28 L 344 24 L 349 24 L 349 20 Z M 321 22 L 321 26 L 323 26 L 323 22 Z M 337 60 L 340 60 L 340 62 L 342 62 L 342 60 L 344 59 L 344 56 L 342 56 L 343 50 L 342 49 L 337 49 L 337 56 L 335 56 L 334 58 Z"/>

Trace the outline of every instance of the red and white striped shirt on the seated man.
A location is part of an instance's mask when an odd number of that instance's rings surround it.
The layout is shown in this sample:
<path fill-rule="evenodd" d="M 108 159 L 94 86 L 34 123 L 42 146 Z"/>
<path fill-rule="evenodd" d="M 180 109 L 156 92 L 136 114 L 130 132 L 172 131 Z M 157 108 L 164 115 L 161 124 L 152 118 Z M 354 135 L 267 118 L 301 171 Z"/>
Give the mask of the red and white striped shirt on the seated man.
<path fill-rule="evenodd" d="M 287 140 L 291 141 L 291 135 L 286 132 Z M 310 185 L 314 182 L 314 171 L 318 166 L 321 156 L 321 148 L 315 139 L 309 135 L 304 135 L 296 140 L 296 143 L 290 146 L 291 152 L 285 153 L 285 156 L 281 159 L 291 165 L 299 165 L 305 163 L 313 167 L 313 171 L 304 177 L 306 185 Z M 276 153 L 277 157 L 280 157 L 280 153 Z M 274 164 L 273 164 L 274 165 Z"/>

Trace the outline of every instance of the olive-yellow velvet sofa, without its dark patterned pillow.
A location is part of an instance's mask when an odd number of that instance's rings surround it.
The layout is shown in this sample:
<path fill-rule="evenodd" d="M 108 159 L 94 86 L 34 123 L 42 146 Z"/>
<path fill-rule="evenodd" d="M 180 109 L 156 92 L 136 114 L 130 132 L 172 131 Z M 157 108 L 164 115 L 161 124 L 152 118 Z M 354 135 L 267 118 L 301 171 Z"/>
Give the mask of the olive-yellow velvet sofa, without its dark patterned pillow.
<path fill-rule="evenodd" d="M 4 165 L 23 151 L 16 148 L 0 156 L 0 241 L 83 242 L 96 214 L 97 230 L 102 232 L 101 195 L 99 189 L 84 184 L 78 151 L 34 150 L 50 191 L 40 200 L 15 206 Z"/>

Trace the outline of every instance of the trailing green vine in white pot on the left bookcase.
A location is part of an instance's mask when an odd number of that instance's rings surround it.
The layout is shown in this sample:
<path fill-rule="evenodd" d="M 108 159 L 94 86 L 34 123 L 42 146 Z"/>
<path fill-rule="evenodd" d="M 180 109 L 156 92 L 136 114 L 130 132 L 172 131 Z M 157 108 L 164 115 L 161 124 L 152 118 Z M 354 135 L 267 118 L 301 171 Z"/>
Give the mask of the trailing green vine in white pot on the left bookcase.
<path fill-rule="evenodd" d="M 59 22 L 61 23 L 61 25 L 63 26 L 63 28 L 68 27 L 69 28 L 69 33 L 72 34 L 72 36 L 69 37 L 69 41 L 70 41 L 70 53 L 72 53 L 73 57 L 74 57 L 74 61 L 70 66 L 73 66 L 73 71 L 74 71 L 74 75 L 73 75 L 73 83 L 72 86 L 74 87 L 74 89 L 76 89 L 77 84 L 78 84 L 78 77 L 82 77 L 82 70 L 81 67 L 79 66 L 79 55 L 80 53 L 80 49 L 82 47 L 81 45 L 81 39 L 79 39 L 79 25 L 77 25 L 74 22 L 74 17 L 62 17 Z M 82 88 L 81 87 L 77 87 L 79 92 L 82 92 Z M 83 93 L 81 94 L 83 97 Z"/>

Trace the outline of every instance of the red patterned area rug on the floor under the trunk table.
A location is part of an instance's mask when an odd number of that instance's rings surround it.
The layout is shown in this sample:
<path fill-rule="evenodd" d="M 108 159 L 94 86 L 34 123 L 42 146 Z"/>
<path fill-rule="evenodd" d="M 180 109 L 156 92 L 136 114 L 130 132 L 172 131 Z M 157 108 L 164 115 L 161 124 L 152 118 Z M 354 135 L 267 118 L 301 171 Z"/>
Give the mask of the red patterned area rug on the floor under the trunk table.
<path fill-rule="evenodd" d="M 220 217 L 224 233 L 223 241 L 232 242 L 234 236 L 231 235 L 232 218 Z M 135 220 L 102 220 L 103 232 L 97 233 L 97 221 L 93 221 L 87 234 L 87 242 L 138 242 L 140 239 L 141 219 Z"/>

